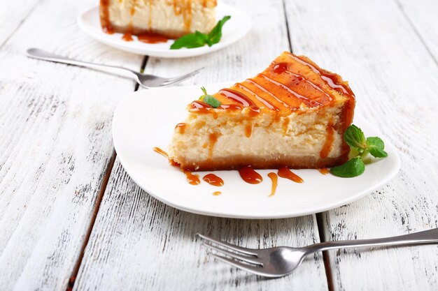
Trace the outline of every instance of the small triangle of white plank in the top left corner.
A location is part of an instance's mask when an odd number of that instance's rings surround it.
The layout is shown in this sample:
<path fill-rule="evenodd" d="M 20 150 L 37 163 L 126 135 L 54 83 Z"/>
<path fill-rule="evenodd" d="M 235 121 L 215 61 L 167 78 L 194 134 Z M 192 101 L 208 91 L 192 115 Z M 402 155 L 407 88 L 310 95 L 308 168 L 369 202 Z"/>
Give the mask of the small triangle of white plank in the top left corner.
<path fill-rule="evenodd" d="M 0 47 L 35 8 L 37 0 L 3 1 L 0 9 Z"/>

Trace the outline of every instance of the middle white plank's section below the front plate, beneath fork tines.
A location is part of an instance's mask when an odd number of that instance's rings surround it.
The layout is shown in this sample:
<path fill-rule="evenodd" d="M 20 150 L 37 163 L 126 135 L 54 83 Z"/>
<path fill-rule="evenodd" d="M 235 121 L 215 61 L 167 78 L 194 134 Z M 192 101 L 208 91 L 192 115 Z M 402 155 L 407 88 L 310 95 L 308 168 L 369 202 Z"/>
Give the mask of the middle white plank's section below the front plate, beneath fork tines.
<path fill-rule="evenodd" d="M 197 232 L 250 248 L 318 242 L 315 216 L 241 220 L 171 208 L 117 161 L 73 290 L 327 290 L 321 254 L 292 276 L 267 280 L 215 262 Z"/>

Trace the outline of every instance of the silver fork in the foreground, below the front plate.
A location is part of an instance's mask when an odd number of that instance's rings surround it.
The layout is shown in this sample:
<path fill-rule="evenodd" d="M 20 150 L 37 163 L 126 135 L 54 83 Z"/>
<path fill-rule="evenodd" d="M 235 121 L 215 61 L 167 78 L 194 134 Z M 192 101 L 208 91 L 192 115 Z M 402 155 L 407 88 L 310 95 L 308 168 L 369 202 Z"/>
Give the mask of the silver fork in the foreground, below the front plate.
<path fill-rule="evenodd" d="M 197 235 L 205 240 L 204 246 L 216 251 L 217 254 L 210 253 L 214 258 L 250 273 L 271 278 L 292 273 L 306 255 L 318 251 L 327 251 L 334 248 L 355 248 L 358 246 L 403 246 L 438 243 L 438 228 L 382 239 L 326 241 L 302 248 L 290 248 L 288 246 L 263 249 L 242 248 L 203 234 L 198 233 Z"/>

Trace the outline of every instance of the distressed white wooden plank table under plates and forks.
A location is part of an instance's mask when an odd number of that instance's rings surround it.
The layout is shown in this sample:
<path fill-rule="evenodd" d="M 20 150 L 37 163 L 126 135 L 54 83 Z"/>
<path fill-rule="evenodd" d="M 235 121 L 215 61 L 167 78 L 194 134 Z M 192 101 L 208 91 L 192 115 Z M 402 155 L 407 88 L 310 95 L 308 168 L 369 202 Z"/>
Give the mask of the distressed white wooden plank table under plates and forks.
<path fill-rule="evenodd" d="M 328 251 L 264 280 L 214 262 L 195 232 L 242 246 L 304 246 L 438 227 L 438 1 L 223 0 L 252 31 L 225 50 L 155 59 L 101 45 L 76 25 L 97 0 L 14 0 L 0 8 L 0 290 L 437 290 L 438 246 Z M 400 151 L 402 170 L 324 213 L 249 221 L 168 207 L 129 179 L 111 119 L 138 87 L 27 59 L 27 47 L 178 75 L 242 80 L 283 50 L 350 81 L 357 110 Z"/>

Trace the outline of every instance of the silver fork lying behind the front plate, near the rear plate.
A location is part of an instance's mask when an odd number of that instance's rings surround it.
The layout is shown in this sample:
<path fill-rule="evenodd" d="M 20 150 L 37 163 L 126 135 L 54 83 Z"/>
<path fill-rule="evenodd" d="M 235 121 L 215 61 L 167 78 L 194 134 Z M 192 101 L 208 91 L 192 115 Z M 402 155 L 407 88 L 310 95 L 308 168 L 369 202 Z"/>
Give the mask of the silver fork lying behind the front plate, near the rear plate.
<path fill-rule="evenodd" d="M 44 50 L 40 50 L 34 47 L 27 49 L 26 51 L 27 57 L 31 57 L 34 59 L 42 59 L 44 61 L 55 61 L 56 63 L 70 64 L 74 66 L 81 66 L 87 68 L 93 68 L 97 70 L 118 70 L 120 72 L 127 73 L 129 77 L 132 77 L 136 82 L 138 82 L 141 87 L 145 88 L 154 88 L 154 87 L 164 87 L 170 86 L 179 82 L 183 82 L 184 80 L 193 77 L 203 68 L 199 68 L 197 70 L 192 71 L 191 73 L 181 75 L 179 77 L 157 77 L 155 75 L 146 75 L 136 72 L 135 70 L 130 70 L 129 68 L 123 68 L 118 66 L 110 66 L 110 65 L 102 65 L 90 63 L 87 61 L 78 61 L 76 59 L 69 59 L 67 57 L 62 57 L 57 54 L 52 54 L 50 52 L 45 52 Z"/>

